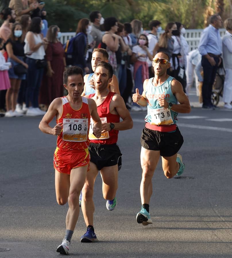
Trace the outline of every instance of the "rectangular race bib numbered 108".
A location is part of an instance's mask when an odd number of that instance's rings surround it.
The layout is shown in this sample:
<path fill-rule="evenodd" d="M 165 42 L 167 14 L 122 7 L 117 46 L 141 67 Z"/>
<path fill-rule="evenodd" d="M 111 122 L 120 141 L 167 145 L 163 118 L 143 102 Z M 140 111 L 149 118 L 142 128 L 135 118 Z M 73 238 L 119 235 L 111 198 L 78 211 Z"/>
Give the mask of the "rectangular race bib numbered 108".
<path fill-rule="evenodd" d="M 63 118 L 63 140 L 68 142 L 87 141 L 88 118 Z"/>

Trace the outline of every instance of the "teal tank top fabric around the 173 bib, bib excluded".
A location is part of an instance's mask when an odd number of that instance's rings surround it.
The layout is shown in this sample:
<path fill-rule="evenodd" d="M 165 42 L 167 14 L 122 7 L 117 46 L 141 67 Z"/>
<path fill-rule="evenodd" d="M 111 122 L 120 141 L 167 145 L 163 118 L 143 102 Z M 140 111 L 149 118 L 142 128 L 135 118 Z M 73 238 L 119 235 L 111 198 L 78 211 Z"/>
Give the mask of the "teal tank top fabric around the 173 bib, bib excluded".
<path fill-rule="evenodd" d="M 177 104 L 177 99 L 173 95 L 171 90 L 171 81 L 174 79 L 173 77 L 169 76 L 168 79 L 159 86 L 154 86 L 152 84 L 152 80 L 154 77 L 150 78 L 147 87 L 146 87 L 146 99 L 148 101 L 147 104 L 147 116 L 145 117 L 145 122 L 150 123 L 151 122 L 151 110 L 160 108 L 158 98 L 165 98 L 168 102 L 171 102 L 173 104 Z M 177 122 L 177 114 L 178 112 L 175 112 L 173 110 L 171 111 L 171 117 L 173 119 L 173 123 L 176 124 Z"/>

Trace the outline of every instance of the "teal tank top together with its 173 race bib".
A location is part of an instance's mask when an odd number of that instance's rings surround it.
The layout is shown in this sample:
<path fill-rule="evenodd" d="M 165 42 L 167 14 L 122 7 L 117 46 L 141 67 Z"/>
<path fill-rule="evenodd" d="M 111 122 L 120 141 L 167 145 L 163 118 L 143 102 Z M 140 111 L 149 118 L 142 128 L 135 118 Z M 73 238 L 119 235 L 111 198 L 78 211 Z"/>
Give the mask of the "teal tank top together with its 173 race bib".
<path fill-rule="evenodd" d="M 155 126 L 173 125 L 177 122 L 177 112 L 169 110 L 159 105 L 158 98 L 164 98 L 167 102 L 177 104 L 177 99 L 171 90 L 171 81 L 174 78 L 169 76 L 167 80 L 159 86 L 152 84 L 153 77 L 148 80 L 146 87 L 147 116 L 145 122 Z"/>

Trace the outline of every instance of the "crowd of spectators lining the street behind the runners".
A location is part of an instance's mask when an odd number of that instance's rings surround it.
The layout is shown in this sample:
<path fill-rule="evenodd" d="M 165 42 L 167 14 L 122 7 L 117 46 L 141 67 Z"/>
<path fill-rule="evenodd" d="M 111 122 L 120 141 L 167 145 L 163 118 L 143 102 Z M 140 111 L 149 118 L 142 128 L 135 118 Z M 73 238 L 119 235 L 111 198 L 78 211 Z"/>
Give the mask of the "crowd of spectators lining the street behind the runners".
<path fill-rule="evenodd" d="M 169 22 L 160 34 L 161 22 L 152 20 L 148 34 L 143 31 L 140 20 L 122 24 L 115 17 L 104 19 L 99 11 L 93 11 L 89 19 L 80 19 L 76 36 L 63 45 L 59 27 L 48 26 L 45 6 L 39 0 L 11 0 L 9 7 L 0 13 L 3 21 L 0 27 L 0 110 L 6 117 L 45 114 L 51 101 L 65 94 L 62 78 L 69 65 L 82 68 L 86 80 L 91 81 L 94 66 L 106 57 L 104 51 L 96 48 L 107 51 L 114 71 L 113 89 L 121 94 L 132 111 L 144 109 L 133 103 L 131 96 L 136 88 L 142 93 L 144 80 L 154 77 L 152 60 L 160 51 L 169 55 L 171 67 L 167 73 L 181 82 L 187 95 L 194 71 L 198 69 L 197 94 L 203 108 L 213 109 L 210 95 L 217 67 L 223 63 L 223 53 L 226 57 L 223 101 L 225 108 L 232 109 L 232 19 L 224 22 L 227 33 L 220 41 L 218 29 L 222 20 L 219 15 L 213 15 L 202 34 L 199 51 L 189 52 L 185 28 L 178 21 Z M 212 46 L 208 42 L 213 42 Z M 200 70 L 204 71 L 204 78 Z M 83 94 L 87 94 L 86 87 L 84 90 Z"/>

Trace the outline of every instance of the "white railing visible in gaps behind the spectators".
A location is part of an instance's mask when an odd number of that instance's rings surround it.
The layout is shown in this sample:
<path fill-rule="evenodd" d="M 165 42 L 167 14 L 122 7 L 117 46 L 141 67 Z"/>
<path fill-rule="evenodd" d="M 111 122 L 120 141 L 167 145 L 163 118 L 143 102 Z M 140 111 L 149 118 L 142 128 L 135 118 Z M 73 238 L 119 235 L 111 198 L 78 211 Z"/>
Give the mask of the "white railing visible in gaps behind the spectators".
<path fill-rule="evenodd" d="M 198 47 L 200 38 L 201 38 L 201 33 L 203 30 L 201 29 L 196 29 L 196 30 L 186 30 L 186 33 L 184 34 L 185 39 L 188 42 L 189 45 L 189 51 L 196 49 Z M 226 30 L 225 29 L 219 29 L 221 37 L 225 35 Z M 150 31 L 145 31 L 149 33 Z M 162 34 L 164 31 L 161 31 L 160 34 Z M 75 32 L 62 32 L 61 33 L 61 43 L 64 44 L 68 39 L 74 37 L 76 35 Z"/>

